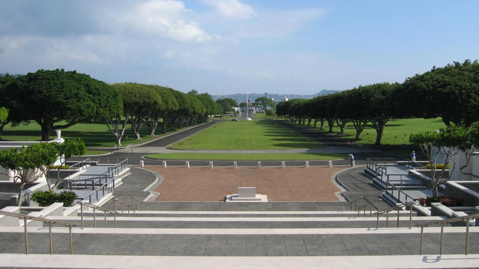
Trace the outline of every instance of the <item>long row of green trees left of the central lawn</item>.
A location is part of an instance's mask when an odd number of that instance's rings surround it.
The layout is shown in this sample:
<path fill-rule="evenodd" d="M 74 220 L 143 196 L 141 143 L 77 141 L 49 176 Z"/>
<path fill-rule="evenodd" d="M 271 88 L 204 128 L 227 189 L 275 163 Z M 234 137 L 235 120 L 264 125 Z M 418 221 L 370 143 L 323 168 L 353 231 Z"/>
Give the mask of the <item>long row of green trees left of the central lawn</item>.
<path fill-rule="evenodd" d="M 192 90 L 185 94 L 169 87 L 121 83 L 108 85 L 76 71 L 38 70 L 27 75 L 0 77 L 0 107 L 10 110 L 1 121 L 41 127 L 42 141 L 49 140 L 55 129 L 65 129 L 85 121 L 105 122 L 114 134 L 116 145 L 131 123 L 140 138 L 142 126 L 154 135 L 162 119 L 162 132 L 169 125 L 180 128 L 204 121 L 208 115 L 221 113 L 221 106 L 207 93 Z"/>

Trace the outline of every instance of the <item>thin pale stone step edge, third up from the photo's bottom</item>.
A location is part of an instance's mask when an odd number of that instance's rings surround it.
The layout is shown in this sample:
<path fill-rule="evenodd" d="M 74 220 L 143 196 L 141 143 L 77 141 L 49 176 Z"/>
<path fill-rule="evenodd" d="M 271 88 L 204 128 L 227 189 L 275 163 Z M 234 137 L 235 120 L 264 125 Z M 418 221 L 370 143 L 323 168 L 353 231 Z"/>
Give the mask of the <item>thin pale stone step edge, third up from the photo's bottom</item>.
<path fill-rule="evenodd" d="M 48 216 L 47 219 L 62 220 L 68 222 L 69 220 L 80 220 L 80 216 Z M 104 216 L 96 216 L 96 221 L 104 221 Z M 380 216 L 379 221 L 386 221 L 386 216 Z M 389 221 L 396 221 L 397 216 L 390 216 Z M 445 216 L 413 216 L 414 221 L 424 222 L 445 220 Z M 83 216 L 83 220 L 93 220 L 93 216 Z M 113 216 L 107 216 L 107 221 L 113 221 Z M 376 221 L 377 217 L 134 217 L 134 216 L 117 216 L 116 221 L 164 221 L 164 222 L 322 222 L 322 221 Z M 409 221 L 409 216 L 399 216 L 399 221 Z"/>

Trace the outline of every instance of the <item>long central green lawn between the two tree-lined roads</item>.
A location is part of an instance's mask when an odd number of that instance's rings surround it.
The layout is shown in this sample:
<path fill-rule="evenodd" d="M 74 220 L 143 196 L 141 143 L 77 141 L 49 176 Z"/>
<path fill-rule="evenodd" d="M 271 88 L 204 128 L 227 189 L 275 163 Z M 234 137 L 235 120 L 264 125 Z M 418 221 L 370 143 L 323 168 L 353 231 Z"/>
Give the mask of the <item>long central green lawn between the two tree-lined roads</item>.
<path fill-rule="evenodd" d="M 321 147 L 318 142 L 310 141 L 288 128 L 262 119 L 221 122 L 171 146 L 180 150 L 284 150 Z"/>

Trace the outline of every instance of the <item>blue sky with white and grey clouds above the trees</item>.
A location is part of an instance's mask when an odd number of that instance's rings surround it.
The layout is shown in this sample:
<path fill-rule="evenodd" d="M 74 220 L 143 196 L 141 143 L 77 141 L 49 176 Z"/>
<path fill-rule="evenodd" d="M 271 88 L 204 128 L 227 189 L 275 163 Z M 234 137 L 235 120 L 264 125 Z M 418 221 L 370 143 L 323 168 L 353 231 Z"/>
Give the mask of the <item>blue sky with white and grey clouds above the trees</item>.
<path fill-rule="evenodd" d="M 0 0 L 0 73 L 310 95 L 479 58 L 477 0 Z"/>

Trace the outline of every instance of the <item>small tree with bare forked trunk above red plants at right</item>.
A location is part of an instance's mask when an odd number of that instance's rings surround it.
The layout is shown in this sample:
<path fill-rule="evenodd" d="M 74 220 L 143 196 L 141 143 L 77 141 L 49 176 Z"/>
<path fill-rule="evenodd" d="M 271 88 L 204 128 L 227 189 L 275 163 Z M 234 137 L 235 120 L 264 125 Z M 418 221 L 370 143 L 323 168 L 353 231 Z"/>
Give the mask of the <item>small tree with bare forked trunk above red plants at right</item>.
<path fill-rule="evenodd" d="M 411 134 L 409 141 L 419 145 L 428 158 L 431 169 L 433 196 L 437 196 L 437 187 L 451 178 L 456 166 L 456 155 L 459 153 L 461 144 L 464 144 L 466 139 L 466 129 L 454 124 L 450 127 L 439 129 L 439 131 Z M 441 169 L 436 167 L 438 161 L 444 163 Z M 449 171 L 447 178 L 441 179 L 451 162 L 454 164 L 453 168 Z"/>

